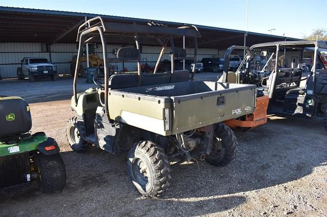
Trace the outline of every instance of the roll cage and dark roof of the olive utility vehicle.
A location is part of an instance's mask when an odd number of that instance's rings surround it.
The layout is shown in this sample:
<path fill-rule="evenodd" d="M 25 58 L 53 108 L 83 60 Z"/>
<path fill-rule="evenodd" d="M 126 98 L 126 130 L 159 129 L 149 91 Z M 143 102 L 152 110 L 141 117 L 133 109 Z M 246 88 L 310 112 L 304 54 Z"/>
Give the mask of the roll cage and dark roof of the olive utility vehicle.
<path fill-rule="evenodd" d="M 194 44 L 194 56 L 186 57 L 186 51 L 182 48 L 177 48 L 174 45 L 174 39 L 180 37 L 193 38 Z M 104 64 L 104 100 L 105 100 L 105 112 L 108 112 L 108 90 L 109 90 L 109 71 L 108 63 L 112 61 L 136 61 L 137 63 L 137 84 L 141 85 L 142 71 L 141 71 L 141 45 L 140 39 L 146 45 L 161 45 L 161 51 L 157 59 L 154 73 L 158 70 L 159 62 L 164 55 L 168 42 L 170 42 L 171 50 L 171 73 L 174 73 L 174 60 L 193 60 L 194 64 L 197 61 L 197 38 L 201 35 L 194 25 L 180 26 L 178 28 L 168 27 L 157 23 L 148 24 L 136 24 L 136 23 L 118 23 L 103 21 L 101 17 L 94 17 L 78 28 L 77 42 L 79 43 L 77 64 L 75 67 L 74 75 L 74 99 L 77 105 L 77 79 L 78 71 L 81 62 L 82 47 L 87 43 L 101 43 L 103 52 L 103 64 Z M 107 58 L 107 41 L 113 43 L 124 43 L 122 39 L 133 38 L 135 41 L 135 47 L 122 47 L 116 53 L 116 58 Z M 125 42 L 126 43 L 126 42 Z M 194 79 L 196 67 L 193 67 L 190 80 Z"/>

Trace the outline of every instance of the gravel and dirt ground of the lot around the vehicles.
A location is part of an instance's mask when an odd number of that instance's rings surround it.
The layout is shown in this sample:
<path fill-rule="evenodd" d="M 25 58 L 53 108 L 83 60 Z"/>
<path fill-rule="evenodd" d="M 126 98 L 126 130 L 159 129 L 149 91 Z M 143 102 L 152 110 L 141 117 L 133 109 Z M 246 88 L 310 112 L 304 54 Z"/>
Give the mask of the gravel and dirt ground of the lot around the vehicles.
<path fill-rule="evenodd" d="M 0 82 L 0 94 L 7 83 Z M 153 200 L 132 185 L 127 153 L 71 150 L 65 126 L 74 113 L 61 97 L 40 97 L 30 106 L 32 132 L 45 131 L 60 146 L 66 187 L 51 195 L 39 193 L 35 183 L 19 193 L 0 192 L 0 216 L 327 215 L 327 133 L 321 119 L 271 116 L 260 128 L 236 130 L 235 161 L 224 168 L 183 164 L 172 171 L 169 191 Z"/>

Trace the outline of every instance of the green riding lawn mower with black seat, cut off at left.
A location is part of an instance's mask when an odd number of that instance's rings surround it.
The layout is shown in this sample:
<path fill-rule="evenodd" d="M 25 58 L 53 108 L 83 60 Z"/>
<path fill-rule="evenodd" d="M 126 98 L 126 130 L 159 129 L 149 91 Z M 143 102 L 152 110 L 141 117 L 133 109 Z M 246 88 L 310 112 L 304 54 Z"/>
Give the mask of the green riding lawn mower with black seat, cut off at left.
<path fill-rule="evenodd" d="M 42 193 L 61 190 L 66 170 L 56 141 L 44 132 L 30 134 L 29 104 L 0 96 L 0 189 L 18 192 L 37 181 Z"/>

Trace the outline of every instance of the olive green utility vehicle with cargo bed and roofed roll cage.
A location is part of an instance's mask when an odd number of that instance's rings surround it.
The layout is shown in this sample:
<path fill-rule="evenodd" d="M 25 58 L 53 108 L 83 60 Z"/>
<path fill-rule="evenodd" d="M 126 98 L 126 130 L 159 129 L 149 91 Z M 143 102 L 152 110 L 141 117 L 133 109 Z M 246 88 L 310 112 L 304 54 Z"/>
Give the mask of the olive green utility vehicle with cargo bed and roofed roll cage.
<path fill-rule="evenodd" d="M 178 47 L 183 36 L 194 47 L 193 57 L 187 57 L 185 49 Z M 200 37 L 196 26 L 122 24 L 104 22 L 101 17 L 83 23 L 77 36 L 78 64 L 71 102 L 76 116 L 67 125 L 72 149 L 83 152 L 94 144 L 111 154 L 129 150 L 129 176 L 146 197 L 162 195 L 171 183 L 171 168 L 186 160 L 206 160 L 217 167 L 228 165 L 236 156 L 237 140 L 221 122 L 252 113 L 256 89 L 254 85 L 195 81 L 195 67 L 191 74 L 174 70 L 175 60 L 196 64 Z M 99 42 L 105 57 L 104 74 L 94 77 L 99 88 L 77 93 L 81 48 Z M 108 58 L 107 42 L 130 46 L 118 49 L 115 57 L 110 53 Z M 153 73 L 142 73 L 140 42 L 162 47 Z M 167 49 L 172 70 L 157 73 Z M 137 65 L 137 72 L 108 71 L 110 62 L 127 61 Z"/>

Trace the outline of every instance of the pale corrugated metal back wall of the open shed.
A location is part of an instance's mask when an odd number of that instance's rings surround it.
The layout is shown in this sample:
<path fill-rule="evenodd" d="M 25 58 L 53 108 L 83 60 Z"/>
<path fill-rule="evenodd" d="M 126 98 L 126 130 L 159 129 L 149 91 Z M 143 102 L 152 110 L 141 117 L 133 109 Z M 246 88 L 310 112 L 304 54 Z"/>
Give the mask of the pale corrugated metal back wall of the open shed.
<path fill-rule="evenodd" d="M 121 45 L 107 45 L 107 57 L 114 58 L 113 49 L 120 48 Z M 154 66 L 157 58 L 159 56 L 161 47 L 160 46 L 142 46 L 141 61 L 146 58 L 148 64 Z M 49 52 L 41 52 L 42 44 L 41 43 L 0 43 L 0 75 L 2 77 L 16 77 L 16 70 L 20 64 L 20 60 L 24 57 L 45 57 L 50 60 Z M 103 58 L 102 47 L 99 45 L 95 49 L 99 53 L 99 56 Z M 170 60 L 169 56 L 170 47 L 167 47 L 162 60 Z M 74 55 L 77 55 L 78 48 L 76 43 L 73 44 L 64 44 L 58 43 L 51 45 L 51 61 L 54 65 L 58 66 L 58 73 L 69 73 L 70 62 Z M 186 48 L 188 57 L 192 57 L 193 48 Z M 218 49 L 209 49 L 209 48 L 199 48 L 198 49 L 198 61 L 201 61 L 202 58 L 206 57 L 222 57 L 224 51 Z M 112 62 L 110 65 L 117 65 L 118 70 L 123 70 L 123 63 L 121 62 Z M 136 71 L 137 64 L 134 62 L 125 62 L 124 66 L 128 71 Z"/>

